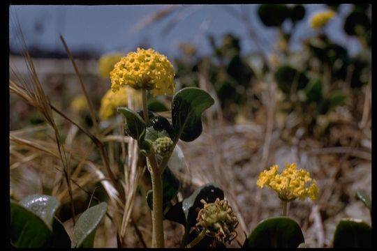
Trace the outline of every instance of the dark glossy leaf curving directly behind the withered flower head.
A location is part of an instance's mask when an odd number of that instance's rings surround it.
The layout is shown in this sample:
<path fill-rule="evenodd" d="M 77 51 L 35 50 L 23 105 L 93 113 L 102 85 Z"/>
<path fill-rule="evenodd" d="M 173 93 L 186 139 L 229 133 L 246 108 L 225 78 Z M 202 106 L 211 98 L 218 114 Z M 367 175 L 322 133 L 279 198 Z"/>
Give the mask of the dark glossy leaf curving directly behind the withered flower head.
<path fill-rule="evenodd" d="M 186 218 L 186 223 L 189 227 L 192 227 L 196 223 L 198 212 L 203 208 L 201 199 L 204 199 L 207 203 L 213 203 L 216 198 L 224 199 L 224 192 L 217 185 L 213 183 L 207 183 L 197 188 L 190 197 L 187 197 L 182 201 L 182 210 Z"/>

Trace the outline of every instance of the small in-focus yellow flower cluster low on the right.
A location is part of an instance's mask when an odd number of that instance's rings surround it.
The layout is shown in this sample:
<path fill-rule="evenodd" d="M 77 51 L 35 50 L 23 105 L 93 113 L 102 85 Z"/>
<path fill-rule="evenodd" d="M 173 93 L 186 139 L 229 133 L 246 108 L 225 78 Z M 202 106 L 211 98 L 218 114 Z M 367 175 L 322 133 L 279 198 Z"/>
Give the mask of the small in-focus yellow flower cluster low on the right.
<path fill-rule="evenodd" d="M 297 198 L 304 200 L 306 197 L 309 197 L 312 201 L 316 200 L 318 197 L 316 180 L 312 179 L 306 170 L 297 170 L 296 168 L 295 163 L 286 164 L 286 169 L 279 174 L 279 166 L 273 165 L 269 170 L 259 174 L 257 185 L 260 188 L 265 185 L 269 186 L 277 192 L 279 198 L 283 201 L 293 201 Z"/>

